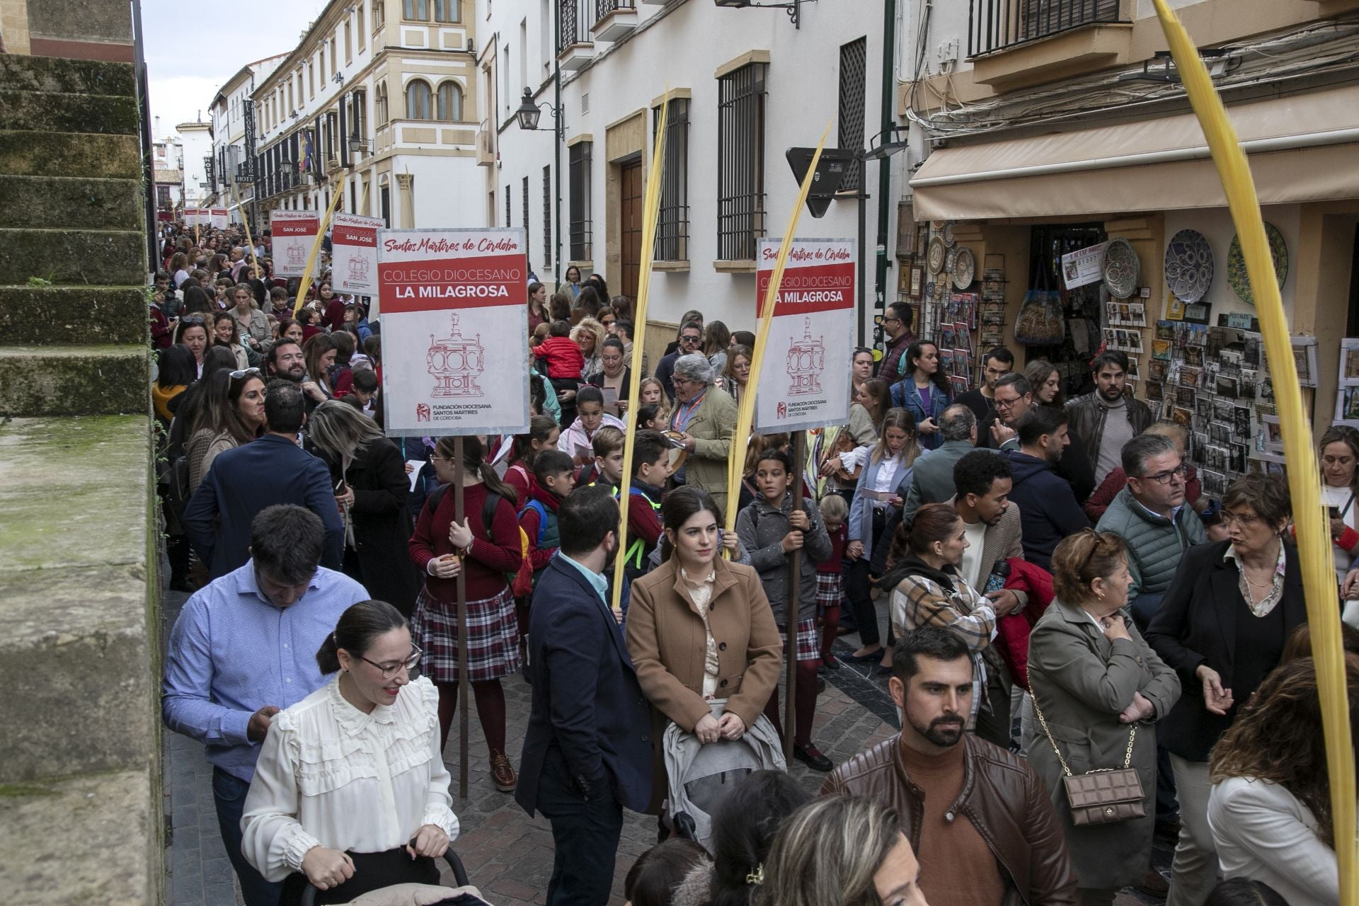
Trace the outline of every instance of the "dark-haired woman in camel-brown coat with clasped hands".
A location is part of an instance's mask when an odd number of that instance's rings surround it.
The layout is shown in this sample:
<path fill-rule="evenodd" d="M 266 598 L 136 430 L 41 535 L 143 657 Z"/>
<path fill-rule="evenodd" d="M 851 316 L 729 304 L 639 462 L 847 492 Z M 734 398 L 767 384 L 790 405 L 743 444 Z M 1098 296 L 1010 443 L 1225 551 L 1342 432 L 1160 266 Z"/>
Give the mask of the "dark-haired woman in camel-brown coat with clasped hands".
<path fill-rule="evenodd" d="M 779 683 L 783 642 L 750 566 L 722 558 L 735 534 L 719 538 L 712 497 L 677 488 L 660 505 L 660 566 L 632 583 L 628 653 L 652 706 L 654 739 L 673 720 L 699 742 L 741 739 Z M 727 700 L 722 717 L 708 701 Z M 659 755 L 660 747 L 656 746 Z M 658 758 L 659 803 L 667 784 Z"/>

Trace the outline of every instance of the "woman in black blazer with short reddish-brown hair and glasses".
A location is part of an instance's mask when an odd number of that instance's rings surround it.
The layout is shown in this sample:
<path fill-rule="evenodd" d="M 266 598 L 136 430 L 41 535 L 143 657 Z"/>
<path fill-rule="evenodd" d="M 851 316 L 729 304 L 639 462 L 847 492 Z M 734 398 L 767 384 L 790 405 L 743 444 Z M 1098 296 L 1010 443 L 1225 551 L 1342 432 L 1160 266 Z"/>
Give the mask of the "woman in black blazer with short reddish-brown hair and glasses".
<path fill-rule="evenodd" d="M 1218 879 L 1208 754 L 1279 664 L 1288 634 L 1307 622 L 1298 550 L 1287 537 L 1291 516 L 1282 477 L 1233 482 L 1222 497 L 1229 541 L 1185 551 L 1147 628 L 1147 641 L 1185 690 L 1161 724 L 1180 800 L 1171 906 L 1201 903 Z"/>

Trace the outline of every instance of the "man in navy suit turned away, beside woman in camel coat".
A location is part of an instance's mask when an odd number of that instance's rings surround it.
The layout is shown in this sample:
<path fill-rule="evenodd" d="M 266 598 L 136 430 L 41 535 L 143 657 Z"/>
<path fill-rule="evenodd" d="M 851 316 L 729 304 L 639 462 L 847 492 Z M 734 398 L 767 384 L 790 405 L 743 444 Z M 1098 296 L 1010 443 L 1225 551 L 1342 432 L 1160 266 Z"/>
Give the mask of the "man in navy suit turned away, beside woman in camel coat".
<path fill-rule="evenodd" d="M 515 801 L 552 822 L 549 906 L 603 906 L 613 887 L 622 807 L 651 799 L 651 716 L 605 600 L 618 504 L 580 488 L 557 511 L 561 547 L 533 592 L 533 706 Z"/>

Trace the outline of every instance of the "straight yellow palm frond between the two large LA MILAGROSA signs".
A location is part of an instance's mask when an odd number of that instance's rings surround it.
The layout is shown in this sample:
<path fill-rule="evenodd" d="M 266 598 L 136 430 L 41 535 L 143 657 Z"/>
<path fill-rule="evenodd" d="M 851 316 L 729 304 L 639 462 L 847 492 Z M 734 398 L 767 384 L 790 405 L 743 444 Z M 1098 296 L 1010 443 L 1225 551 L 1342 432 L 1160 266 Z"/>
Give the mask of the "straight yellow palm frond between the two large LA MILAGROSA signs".
<path fill-rule="evenodd" d="M 670 87 L 660 102 L 656 143 L 647 174 L 646 205 L 641 217 L 641 269 L 637 273 L 637 307 L 632 325 L 632 363 L 628 375 L 628 406 L 624 410 L 622 474 L 618 477 L 618 549 L 613 558 L 613 618 L 622 622 L 622 569 L 626 565 L 628 499 L 632 496 L 632 452 L 637 440 L 637 393 L 641 386 L 641 345 L 647 338 L 647 302 L 651 296 L 651 262 L 655 258 L 656 219 L 660 212 L 660 175 L 666 167 L 666 121 L 670 115 Z"/>

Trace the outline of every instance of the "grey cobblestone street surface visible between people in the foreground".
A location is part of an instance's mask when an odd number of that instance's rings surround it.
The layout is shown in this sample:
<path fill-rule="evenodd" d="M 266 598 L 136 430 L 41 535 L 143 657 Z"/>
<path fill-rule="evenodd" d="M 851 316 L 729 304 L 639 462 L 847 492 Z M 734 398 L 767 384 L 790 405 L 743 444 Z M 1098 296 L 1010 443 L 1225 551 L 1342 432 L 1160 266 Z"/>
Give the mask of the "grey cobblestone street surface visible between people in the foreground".
<path fill-rule="evenodd" d="M 167 592 L 164 629 L 173 625 L 185 595 Z M 845 636 L 837 651 L 851 652 L 856 636 Z M 886 694 L 886 681 L 870 679 L 867 668 L 855 670 L 845 664 L 839 671 L 825 674 L 828 683 L 817 700 L 817 729 L 813 740 L 836 763 L 859 750 L 896 732 L 892 701 Z M 523 742 L 529 717 L 529 685 L 515 676 L 504 681 L 508 713 L 508 748 L 518 766 L 518 753 Z M 467 876 L 495 906 L 523 906 L 545 903 L 548 879 L 552 875 L 552 830 L 544 818 L 530 819 L 511 795 L 500 793 L 491 782 L 485 742 L 476 719 L 470 716 L 469 796 L 457 797 L 458 743 L 457 724 L 448 740 L 446 761 L 453 773 L 454 811 L 462 831 L 454 849 L 467 869 Z M 234 886 L 231 864 L 227 861 L 217 831 L 212 804 L 212 772 L 197 742 L 164 733 L 166 755 L 166 879 L 167 902 L 174 906 L 232 906 L 241 903 Z M 811 772 L 800 762 L 792 762 L 790 773 L 809 792 L 819 789 L 825 774 Z M 656 819 L 650 815 L 625 814 L 622 839 L 614 867 L 612 906 L 621 906 L 622 879 L 633 860 L 655 844 Z M 1158 864 L 1169 865 L 1169 853 L 1158 844 Z M 451 876 L 446 877 L 451 883 Z M 1125 894 L 1118 906 L 1159 901 Z"/>

